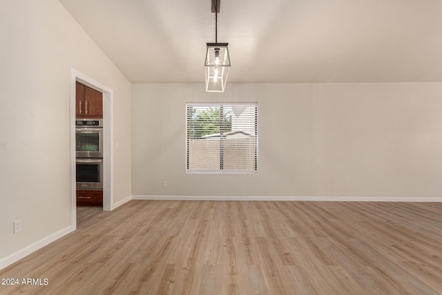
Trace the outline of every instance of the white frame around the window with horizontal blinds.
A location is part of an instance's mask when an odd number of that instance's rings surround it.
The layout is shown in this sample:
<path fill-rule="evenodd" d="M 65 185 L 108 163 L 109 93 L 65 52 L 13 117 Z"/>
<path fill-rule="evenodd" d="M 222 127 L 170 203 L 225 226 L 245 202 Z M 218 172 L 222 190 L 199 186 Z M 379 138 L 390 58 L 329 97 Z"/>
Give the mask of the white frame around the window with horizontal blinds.
<path fill-rule="evenodd" d="M 224 169 L 222 167 L 223 160 L 220 160 L 220 169 L 189 169 L 189 117 L 188 111 L 189 106 L 210 106 L 210 107 L 219 107 L 223 109 L 224 106 L 236 106 L 236 105 L 245 105 L 245 106 L 254 106 L 255 107 L 255 126 L 254 126 L 254 161 L 253 161 L 253 169 Z M 258 173 L 258 102 L 186 102 L 186 110 L 185 110 L 185 120 L 186 120 L 186 140 L 185 140 L 185 170 L 186 173 L 189 174 L 254 174 Z M 222 115 L 220 116 L 222 117 Z M 221 126 L 220 126 L 221 127 Z M 222 132 L 221 132 L 222 133 Z M 220 140 L 222 142 L 222 136 L 220 136 Z M 220 144 L 220 159 L 223 157 L 222 155 L 222 144 Z"/>

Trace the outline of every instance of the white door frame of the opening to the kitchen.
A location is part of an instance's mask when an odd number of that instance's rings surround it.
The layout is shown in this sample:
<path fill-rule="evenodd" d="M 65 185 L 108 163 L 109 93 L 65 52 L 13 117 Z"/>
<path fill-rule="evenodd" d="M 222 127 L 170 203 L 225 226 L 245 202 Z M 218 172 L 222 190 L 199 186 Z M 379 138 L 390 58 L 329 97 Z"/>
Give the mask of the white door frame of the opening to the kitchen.
<path fill-rule="evenodd" d="M 113 90 L 75 68 L 70 68 L 70 225 L 77 228 L 75 164 L 75 83 L 81 82 L 103 93 L 103 210 L 113 204 Z"/>

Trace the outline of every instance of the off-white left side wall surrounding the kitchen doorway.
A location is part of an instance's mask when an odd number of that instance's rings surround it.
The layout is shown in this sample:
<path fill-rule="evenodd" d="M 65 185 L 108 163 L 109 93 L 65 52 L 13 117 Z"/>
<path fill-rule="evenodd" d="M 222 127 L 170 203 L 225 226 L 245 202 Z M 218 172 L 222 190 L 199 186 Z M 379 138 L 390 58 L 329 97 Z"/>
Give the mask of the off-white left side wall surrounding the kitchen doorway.
<path fill-rule="evenodd" d="M 2 1 L 0 32 L 1 268 L 70 226 L 70 67 L 113 89 L 114 202 L 131 196 L 131 85 L 57 0 Z"/>

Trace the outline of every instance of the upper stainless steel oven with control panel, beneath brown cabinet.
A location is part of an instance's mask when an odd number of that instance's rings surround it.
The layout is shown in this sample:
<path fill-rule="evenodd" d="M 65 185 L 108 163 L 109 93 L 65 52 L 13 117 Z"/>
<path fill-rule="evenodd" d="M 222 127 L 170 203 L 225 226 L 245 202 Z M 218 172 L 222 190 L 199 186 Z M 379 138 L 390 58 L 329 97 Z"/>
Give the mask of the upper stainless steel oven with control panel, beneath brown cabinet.
<path fill-rule="evenodd" d="M 77 158 L 103 158 L 103 120 L 75 120 L 75 151 Z"/>

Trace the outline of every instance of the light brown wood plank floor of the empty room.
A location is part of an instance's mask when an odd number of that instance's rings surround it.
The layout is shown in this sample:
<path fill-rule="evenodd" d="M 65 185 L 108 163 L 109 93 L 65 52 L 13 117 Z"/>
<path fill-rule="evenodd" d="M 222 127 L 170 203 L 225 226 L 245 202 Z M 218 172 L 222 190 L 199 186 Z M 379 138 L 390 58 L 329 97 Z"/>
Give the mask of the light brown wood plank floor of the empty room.
<path fill-rule="evenodd" d="M 442 203 L 132 200 L 0 271 L 0 294 L 442 294 Z"/>

